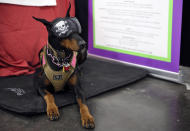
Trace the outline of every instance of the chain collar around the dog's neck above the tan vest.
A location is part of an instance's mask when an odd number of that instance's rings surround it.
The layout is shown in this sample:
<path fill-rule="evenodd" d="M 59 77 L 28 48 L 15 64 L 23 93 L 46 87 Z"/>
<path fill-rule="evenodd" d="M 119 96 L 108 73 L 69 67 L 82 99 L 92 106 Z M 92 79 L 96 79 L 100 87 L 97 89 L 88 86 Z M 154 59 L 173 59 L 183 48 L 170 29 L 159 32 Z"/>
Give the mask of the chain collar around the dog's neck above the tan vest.
<path fill-rule="evenodd" d="M 73 52 L 69 54 L 69 56 L 64 57 L 65 50 L 58 51 L 54 49 L 49 43 L 46 45 L 46 55 L 50 59 L 50 62 L 53 66 L 58 68 L 65 67 L 66 69 L 70 66 L 71 58 L 73 56 Z"/>

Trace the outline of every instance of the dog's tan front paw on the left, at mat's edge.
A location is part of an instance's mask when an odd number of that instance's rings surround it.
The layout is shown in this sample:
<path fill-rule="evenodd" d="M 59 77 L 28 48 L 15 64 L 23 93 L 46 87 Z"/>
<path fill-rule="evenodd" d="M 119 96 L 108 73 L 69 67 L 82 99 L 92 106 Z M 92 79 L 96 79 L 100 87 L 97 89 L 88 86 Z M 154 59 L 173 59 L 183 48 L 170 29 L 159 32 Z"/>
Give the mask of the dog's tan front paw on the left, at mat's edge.
<path fill-rule="evenodd" d="M 51 121 L 59 119 L 59 110 L 55 104 L 50 104 L 47 106 L 47 116 Z"/>

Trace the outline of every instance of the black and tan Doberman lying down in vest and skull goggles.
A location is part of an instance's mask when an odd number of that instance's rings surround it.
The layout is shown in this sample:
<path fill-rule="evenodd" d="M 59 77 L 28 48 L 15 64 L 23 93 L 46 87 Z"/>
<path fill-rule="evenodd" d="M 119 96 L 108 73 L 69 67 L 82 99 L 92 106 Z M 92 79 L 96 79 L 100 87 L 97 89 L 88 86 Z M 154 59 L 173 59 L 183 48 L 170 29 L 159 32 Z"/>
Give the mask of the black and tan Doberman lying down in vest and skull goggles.
<path fill-rule="evenodd" d="M 70 9 L 69 9 L 70 10 Z M 43 23 L 48 31 L 48 43 L 40 52 L 42 72 L 39 75 L 39 93 L 47 105 L 50 120 L 60 116 L 53 93 L 69 85 L 74 90 L 80 107 L 82 126 L 94 128 L 94 118 L 85 103 L 85 95 L 79 81 L 79 65 L 87 56 L 85 41 L 79 36 L 81 26 L 75 17 L 57 18 L 52 22 L 33 17 Z"/>

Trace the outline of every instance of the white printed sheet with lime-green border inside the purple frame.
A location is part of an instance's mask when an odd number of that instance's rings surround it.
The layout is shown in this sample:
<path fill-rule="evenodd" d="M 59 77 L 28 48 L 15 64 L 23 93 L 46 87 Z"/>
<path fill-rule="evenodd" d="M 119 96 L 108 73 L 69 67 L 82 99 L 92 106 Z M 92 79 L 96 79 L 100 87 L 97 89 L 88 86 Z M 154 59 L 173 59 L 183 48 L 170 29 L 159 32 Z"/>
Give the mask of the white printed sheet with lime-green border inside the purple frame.
<path fill-rule="evenodd" d="M 173 0 L 93 0 L 94 48 L 171 61 Z"/>

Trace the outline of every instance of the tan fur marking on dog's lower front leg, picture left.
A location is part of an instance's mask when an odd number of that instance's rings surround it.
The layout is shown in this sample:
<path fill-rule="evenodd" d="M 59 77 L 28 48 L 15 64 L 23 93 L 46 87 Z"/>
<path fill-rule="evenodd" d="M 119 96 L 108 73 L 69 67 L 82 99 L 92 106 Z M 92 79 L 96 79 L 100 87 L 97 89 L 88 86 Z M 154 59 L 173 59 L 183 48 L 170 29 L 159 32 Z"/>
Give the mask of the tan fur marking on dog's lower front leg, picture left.
<path fill-rule="evenodd" d="M 55 104 L 54 96 L 47 90 L 45 90 L 45 93 L 44 100 L 47 104 L 47 115 L 50 120 L 57 120 L 59 118 L 59 110 Z"/>

